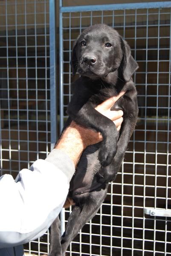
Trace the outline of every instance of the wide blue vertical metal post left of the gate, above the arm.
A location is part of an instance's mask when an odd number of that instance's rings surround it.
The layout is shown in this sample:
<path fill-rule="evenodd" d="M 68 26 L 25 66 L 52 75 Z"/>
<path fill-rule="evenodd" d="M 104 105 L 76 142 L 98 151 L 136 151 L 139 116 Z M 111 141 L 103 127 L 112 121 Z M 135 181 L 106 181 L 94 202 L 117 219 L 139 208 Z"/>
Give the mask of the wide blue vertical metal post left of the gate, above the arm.
<path fill-rule="evenodd" d="M 57 140 L 56 1 L 49 0 L 51 150 Z"/>

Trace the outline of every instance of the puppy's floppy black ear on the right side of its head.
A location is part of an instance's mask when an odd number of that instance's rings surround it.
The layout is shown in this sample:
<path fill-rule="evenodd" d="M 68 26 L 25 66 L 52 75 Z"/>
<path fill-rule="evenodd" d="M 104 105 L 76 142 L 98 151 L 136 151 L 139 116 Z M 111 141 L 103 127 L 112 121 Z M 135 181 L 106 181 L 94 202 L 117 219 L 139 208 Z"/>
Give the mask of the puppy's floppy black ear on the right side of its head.
<path fill-rule="evenodd" d="M 128 43 L 123 39 L 121 39 L 121 47 L 123 52 L 123 59 L 121 64 L 123 78 L 125 81 L 129 81 L 133 73 L 137 70 L 138 64 L 131 55 Z"/>

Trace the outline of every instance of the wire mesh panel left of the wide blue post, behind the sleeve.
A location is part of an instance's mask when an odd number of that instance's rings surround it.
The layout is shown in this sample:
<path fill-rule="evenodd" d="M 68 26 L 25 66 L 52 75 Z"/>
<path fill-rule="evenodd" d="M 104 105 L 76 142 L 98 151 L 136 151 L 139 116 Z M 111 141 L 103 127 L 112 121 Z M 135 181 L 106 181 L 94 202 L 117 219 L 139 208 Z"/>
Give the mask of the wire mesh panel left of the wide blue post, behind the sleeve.
<path fill-rule="evenodd" d="M 49 1 L 0 1 L 0 175 L 50 151 L 49 79 Z M 48 239 L 25 251 L 47 254 Z"/>

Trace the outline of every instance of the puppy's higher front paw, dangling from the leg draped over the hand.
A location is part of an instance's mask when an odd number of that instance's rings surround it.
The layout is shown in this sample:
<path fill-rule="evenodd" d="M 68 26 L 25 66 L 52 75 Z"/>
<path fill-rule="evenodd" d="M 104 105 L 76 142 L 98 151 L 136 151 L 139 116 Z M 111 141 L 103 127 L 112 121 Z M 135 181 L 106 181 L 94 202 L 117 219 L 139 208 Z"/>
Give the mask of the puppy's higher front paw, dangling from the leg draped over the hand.
<path fill-rule="evenodd" d="M 99 151 L 99 161 L 102 166 L 108 166 L 116 154 L 117 146 L 114 147 L 114 143 L 112 143 L 112 145 L 110 144 L 111 143 L 104 143 L 101 145 Z"/>

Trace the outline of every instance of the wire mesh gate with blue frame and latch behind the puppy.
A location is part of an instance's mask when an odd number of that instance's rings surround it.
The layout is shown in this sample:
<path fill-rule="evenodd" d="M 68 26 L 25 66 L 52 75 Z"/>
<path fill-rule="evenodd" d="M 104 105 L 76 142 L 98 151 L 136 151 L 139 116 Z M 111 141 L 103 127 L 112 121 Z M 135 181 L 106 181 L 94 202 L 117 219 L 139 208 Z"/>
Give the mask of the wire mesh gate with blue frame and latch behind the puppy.
<path fill-rule="evenodd" d="M 139 64 L 134 76 L 139 120 L 107 198 L 67 255 L 170 255 L 171 2 L 67 7 L 60 1 L 61 128 L 71 97 L 72 45 L 96 23 L 115 27 Z M 70 211 L 62 214 L 63 229 L 64 214 L 68 218 Z"/>

